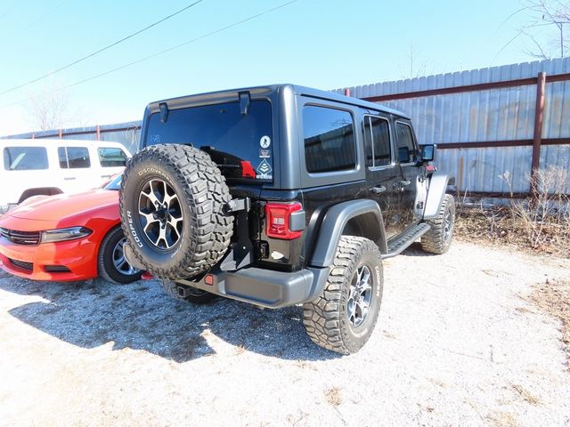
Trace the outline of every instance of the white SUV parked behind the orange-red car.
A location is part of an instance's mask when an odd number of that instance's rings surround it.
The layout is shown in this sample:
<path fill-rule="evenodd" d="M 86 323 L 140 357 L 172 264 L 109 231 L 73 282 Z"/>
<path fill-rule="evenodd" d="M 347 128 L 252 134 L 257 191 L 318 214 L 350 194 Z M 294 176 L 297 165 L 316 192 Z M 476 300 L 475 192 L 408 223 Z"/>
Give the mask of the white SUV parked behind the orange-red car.
<path fill-rule="evenodd" d="M 0 140 L 0 214 L 28 197 L 99 187 L 129 157 L 118 142 Z"/>

